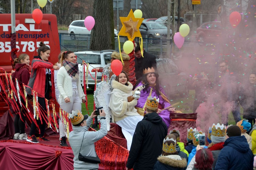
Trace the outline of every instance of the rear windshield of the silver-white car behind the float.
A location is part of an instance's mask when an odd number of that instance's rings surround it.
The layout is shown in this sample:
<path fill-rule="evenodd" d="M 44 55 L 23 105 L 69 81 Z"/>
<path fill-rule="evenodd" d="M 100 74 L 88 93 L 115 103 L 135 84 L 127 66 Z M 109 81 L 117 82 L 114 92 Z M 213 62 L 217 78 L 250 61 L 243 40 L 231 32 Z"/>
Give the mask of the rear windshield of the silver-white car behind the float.
<path fill-rule="evenodd" d="M 77 55 L 77 63 L 82 64 L 83 60 L 89 64 L 101 64 L 100 55 L 99 54 L 76 54 Z"/>

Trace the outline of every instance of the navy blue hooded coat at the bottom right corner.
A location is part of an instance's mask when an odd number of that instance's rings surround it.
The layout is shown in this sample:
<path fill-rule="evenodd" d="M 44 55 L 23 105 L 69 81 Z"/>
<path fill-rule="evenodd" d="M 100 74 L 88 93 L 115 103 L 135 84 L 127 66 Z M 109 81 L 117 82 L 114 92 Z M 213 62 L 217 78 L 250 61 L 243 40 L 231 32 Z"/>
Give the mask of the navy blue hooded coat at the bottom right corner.
<path fill-rule="evenodd" d="M 253 170 L 254 155 L 244 136 L 229 137 L 218 156 L 215 170 Z"/>

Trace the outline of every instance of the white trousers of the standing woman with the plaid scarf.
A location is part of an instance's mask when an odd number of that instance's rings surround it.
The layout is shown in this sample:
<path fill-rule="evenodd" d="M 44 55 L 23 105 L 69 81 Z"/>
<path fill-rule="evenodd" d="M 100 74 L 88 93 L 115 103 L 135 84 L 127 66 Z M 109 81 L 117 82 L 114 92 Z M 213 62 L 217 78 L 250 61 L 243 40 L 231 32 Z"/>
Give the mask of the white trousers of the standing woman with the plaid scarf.
<path fill-rule="evenodd" d="M 62 104 L 60 104 L 60 108 L 69 114 L 75 110 L 79 110 L 81 112 L 81 109 L 82 109 L 81 99 L 79 98 L 77 89 L 73 89 L 72 98 L 73 98 L 73 102 L 65 103 L 65 101 L 63 101 Z M 60 136 L 59 140 L 63 136 L 67 137 L 67 127 L 63 124 L 62 117 L 60 117 L 59 119 L 59 136 Z"/>

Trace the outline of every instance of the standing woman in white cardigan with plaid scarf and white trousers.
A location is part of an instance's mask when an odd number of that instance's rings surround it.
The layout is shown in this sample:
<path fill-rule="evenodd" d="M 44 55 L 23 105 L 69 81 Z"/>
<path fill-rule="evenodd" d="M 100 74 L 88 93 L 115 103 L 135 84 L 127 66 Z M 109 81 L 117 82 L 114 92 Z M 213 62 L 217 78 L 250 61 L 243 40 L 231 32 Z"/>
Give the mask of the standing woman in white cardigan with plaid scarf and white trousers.
<path fill-rule="evenodd" d="M 82 105 L 85 103 L 85 94 L 80 82 L 80 73 L 76 56 L 72 51 L 65 51 L 61 54 L 60 67 L 57 73 L 57 88 L 59 90 L 58 103 L 60 108 L 67 113 L 72 110 L 81 112 Z M 66 143 L 66 128 L 63 119 L 59 119 L 60 146 L 68 146 Z"/>

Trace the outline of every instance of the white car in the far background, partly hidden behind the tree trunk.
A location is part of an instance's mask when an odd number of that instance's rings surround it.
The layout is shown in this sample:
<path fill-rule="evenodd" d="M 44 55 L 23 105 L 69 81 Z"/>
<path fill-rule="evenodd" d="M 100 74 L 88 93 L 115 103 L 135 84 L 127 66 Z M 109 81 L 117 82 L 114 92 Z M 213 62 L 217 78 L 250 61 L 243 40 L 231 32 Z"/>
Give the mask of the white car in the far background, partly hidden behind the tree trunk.
<path fill-rule="evenodd" d="M 75 35 L 79 34 L 91 34 L 91 30 L 87 30 L 84 26 L 84 20 L 72 21 L 68 27 L 68 34 L 70 34 L 71 39 L 75 39 Z M 114 34 L 117 36 L 117 30 L 114 29 Z"/>

